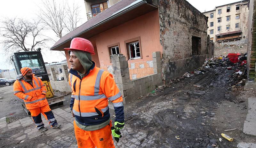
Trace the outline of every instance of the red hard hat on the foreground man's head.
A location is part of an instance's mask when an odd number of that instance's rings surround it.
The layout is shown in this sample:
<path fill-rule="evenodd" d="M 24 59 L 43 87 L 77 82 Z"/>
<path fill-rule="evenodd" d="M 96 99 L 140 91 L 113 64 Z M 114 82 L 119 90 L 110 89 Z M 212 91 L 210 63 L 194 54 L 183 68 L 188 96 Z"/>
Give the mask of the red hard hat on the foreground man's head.
<path fill-rule="evenodd" d="M 66 50 L 80 50 L 95 54 L 92 43 L 81 37 L 75 37 L 70 43 L 70 48 L 64 48 Z"/>

